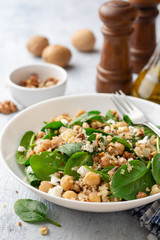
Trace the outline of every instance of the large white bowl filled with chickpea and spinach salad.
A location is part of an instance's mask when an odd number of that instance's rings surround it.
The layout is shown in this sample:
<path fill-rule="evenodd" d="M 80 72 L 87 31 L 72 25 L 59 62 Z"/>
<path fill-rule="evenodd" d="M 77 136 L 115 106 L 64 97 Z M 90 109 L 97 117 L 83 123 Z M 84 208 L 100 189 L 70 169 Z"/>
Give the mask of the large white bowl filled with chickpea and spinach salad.
<path fill-rule="evenodd" d="M 159 125 L 159 105 L 130 99 Z M 25 187 L 58 205 L 92 212 L 159 199 L 159 148 L 154 132 L 119 117 L 110 94 L 29 107 L 7 124 L 0 144 L 5 166 Z"/>

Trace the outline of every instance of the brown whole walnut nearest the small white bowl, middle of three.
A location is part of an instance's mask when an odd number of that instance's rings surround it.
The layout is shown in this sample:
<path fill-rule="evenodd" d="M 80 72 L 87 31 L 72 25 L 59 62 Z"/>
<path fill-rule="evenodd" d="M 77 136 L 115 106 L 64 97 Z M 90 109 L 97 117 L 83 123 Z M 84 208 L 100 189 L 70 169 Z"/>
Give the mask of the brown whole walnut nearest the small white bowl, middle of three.
<path fill-rule="evenodd" d="M 57 64 L 61 67 L 67 66 L 71 56 L 71 51 L 61 45 L 47 46 L 42 52 L 42 58 L 45 62 Z"/>

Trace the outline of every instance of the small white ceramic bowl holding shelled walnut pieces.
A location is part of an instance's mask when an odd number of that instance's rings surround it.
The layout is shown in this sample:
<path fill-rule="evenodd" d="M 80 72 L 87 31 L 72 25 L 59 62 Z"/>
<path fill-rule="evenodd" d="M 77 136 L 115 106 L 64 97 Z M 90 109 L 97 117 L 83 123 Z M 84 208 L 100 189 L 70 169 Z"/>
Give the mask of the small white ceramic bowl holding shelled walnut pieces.
<path fill-rule="evenodd" d="M 32 73 L 38 74 L 42 81 L 49 77 L 55 77 L 59 82 L 54 86 L 44 88 L 27 88 L 18 85 L 22 80 L 28 79 Z M 32 64 L 17 68 L 8 77 L 12 97 L 24 107 L 64 95 L 66 83 L 67 72 L 63 68 L 49 63 Z"/>

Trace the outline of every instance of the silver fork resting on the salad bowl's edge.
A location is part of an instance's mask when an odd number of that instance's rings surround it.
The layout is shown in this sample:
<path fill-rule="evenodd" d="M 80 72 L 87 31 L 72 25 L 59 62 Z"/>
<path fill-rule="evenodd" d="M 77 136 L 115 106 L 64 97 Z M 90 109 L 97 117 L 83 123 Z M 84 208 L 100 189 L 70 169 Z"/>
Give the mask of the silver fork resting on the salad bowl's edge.
<path fill-rule="evenodd" d="M 128 115 L 134 124 L 145 125 L 152 129 L 160 137 L 160 129 L 151 123 L 144 113 L 137 108 L 121 90 L 112 94 L 111 98 L 122 116 L 125 114 Z"/>

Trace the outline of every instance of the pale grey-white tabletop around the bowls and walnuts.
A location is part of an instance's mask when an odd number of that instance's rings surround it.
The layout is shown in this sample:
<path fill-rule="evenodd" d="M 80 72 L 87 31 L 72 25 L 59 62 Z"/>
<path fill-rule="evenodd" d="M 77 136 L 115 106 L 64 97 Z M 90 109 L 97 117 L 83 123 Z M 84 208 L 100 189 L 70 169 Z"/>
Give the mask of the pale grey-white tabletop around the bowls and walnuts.
<path fill-rule="evenodd" d="M 102 0 L 5 0 L 0 1 L 0 101 L 11 99 L 6 79 L 15 67 L 42 62 L 31 56 L 26 40 L 34 34 L 49 38 L 51 44 L 68 46 L 72 60 L 68 71 L 66 94 L 95 92 L 96 67 L 100 60 L 103 37 L 98 8 Z M 158 18 L 158 25 L 160 20 Z M 71 43 L 71 34 L 78 29 L 89 28 L 97 38 L 95 51 L 80 53 Z M 159 35 L 159 32 L 158 32 Z M 20 107 L 21 109 L 21 107 Z M 0 114 L 0 131 L 14 114 Z M 16 193 L 18 191 L 18 194 Z M 20 219 L 13 211 L 19 198 L 41 200 L 49 208 L 49 217 L 62 224 L 57 228 L 49 223 L 18 226 Z M 3 208 L 6 204 L 6 208 Z M 39 228 L 49 227 L 48 236 L 41 236 Z M 85 213 L 56 206 L 25 189 L 7 172 L 0 162 L 0 240 L 143 240 L 148 231 L 140 228 L 131 211 L 118 213 Z"/>

